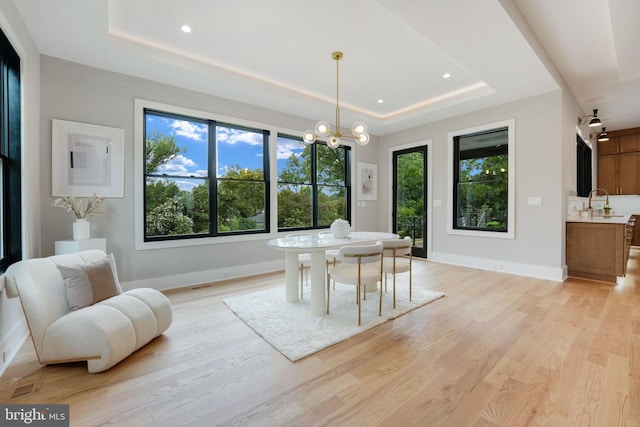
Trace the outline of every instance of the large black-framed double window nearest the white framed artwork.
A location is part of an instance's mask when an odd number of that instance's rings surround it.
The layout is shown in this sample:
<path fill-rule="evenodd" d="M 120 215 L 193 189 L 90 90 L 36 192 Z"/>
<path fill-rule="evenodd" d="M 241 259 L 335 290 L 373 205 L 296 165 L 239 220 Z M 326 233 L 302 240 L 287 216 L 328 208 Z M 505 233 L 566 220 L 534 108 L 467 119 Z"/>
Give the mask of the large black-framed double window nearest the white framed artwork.
<path fill-rule="evenodd" d="M 269 231 L 269 131 L 143 116 L 145 241 Z"/>

